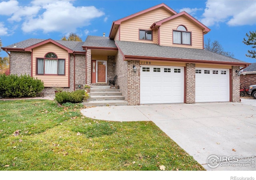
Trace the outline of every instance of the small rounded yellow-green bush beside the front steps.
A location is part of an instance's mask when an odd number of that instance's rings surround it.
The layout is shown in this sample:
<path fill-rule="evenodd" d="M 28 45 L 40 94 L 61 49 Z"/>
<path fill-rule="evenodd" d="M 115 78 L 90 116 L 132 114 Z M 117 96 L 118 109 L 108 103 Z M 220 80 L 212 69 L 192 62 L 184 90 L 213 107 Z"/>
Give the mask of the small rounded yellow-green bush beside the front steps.
<path fill-rule="evenodd" d="M 84 90 L 75 90 L 73 92 L 57 92 L 55 94 L 55 100 L 60 103 L 66 103 L 66 102 L 71 102 L 71 103 L 80 103 L 83 102 L 84 99 Z"/>

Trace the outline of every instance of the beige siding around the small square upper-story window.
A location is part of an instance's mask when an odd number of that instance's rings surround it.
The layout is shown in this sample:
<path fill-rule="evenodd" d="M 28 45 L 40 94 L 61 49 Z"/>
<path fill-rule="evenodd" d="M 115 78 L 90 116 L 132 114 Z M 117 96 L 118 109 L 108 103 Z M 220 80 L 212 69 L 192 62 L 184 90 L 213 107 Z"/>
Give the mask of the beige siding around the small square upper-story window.
<path fill-rule="evenodd" d="M 139 40 L 139 29 L 151 30 L 150 26 L 154 22 L 158 22 L 164 18 L 168 18 L 172 14 L 166 11 L 164 8 L 158 8 L 150 12 L 141 14 L 129 20 L 126 20 L 120 25 L 120 40 L 121 41 L 133 41 L 133 42 L 147 42 L 156 44 L 156 33 L 153 34 L 153 41 Z M 157 31 L 156 31 L 157 32 Z"/>

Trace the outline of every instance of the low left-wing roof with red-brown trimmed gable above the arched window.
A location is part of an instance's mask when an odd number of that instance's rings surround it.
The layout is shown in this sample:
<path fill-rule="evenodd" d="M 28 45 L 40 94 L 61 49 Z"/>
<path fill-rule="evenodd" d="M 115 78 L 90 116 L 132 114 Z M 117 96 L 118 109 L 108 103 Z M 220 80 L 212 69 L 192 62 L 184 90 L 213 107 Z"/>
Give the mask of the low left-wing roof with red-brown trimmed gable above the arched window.
<path fill-rule="evenodd" d="M 2 49 L 5 49 L 7 51 L 30 51 L 32 48 L 41 46 L 42 44 L 46 44 L 48 42 L 52 42 L 53 44 L 56 44 L 57 46 L 60 46 L 61 48 L 64 48 L 69 53 L 72 52 L 84 52 L 82 45 L 84 42 L 80 41 L 62 41 L 62 40 L 52 40 L 52 39 L 27 39 L 21 42 L 17 42 L 15 44 L 11 44 L 9 46 L 2 47 Z"/>

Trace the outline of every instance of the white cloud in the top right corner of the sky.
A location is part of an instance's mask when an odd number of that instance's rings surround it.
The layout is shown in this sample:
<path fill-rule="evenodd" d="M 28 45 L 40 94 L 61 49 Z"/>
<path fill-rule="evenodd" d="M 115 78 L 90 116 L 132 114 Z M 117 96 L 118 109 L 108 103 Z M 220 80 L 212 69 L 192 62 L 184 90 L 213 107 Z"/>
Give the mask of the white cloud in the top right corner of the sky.
<path fill-rule="evenodd" d="M 207 0 L 203 18 L 206 26 L 225 22 L 230 26 L 256 24 L 256 1 L 253 0 Z"/>

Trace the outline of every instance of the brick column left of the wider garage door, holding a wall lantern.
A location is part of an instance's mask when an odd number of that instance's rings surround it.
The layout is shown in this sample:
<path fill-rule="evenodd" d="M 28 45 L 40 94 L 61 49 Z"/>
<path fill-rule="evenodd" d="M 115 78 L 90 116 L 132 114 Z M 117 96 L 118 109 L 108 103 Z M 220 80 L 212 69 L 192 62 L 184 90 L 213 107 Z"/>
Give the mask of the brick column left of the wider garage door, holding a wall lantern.
<path fill-rule="evenodd" d="M 134 72 L 133 65 L 136 66 L 137 71 Z M 140 61 L 128 61 L 128 105 L 140 105 Z"/>

